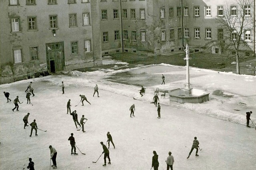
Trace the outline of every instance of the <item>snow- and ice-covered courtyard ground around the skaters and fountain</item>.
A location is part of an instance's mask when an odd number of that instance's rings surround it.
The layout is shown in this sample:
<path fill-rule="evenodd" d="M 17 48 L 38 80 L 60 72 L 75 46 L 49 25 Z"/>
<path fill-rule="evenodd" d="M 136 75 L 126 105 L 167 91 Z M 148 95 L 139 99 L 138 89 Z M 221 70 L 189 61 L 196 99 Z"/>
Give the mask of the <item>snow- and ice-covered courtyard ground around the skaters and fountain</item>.
<path fill-rule="evenodd" d="M 109 60 L 111 61 L 111 59 Z M 113 61 L 112 61 L 113 62 Z M 174 156 L 175 170 L 254 170 L 256 167 L 256 130 L 247 128 L 246 111 L 255 116 L 255 81 L 249 75 L 218 73 L 190 67 L 191 87 L 207 89 L 210 101 L 193 104 L 179 104 L 160 98 L 161 119 L 157 119 L 156 107 L 150 104 L 156 87 L 160 91 L 184 87 L 185 67 L 173 65 L 151 65 L 126 69 L 100 69 L 82 73 L 64 71 L 63 75 L 28 79 L 0 85 L 1 91 L 10 93 L 10 99 L 18 95 L 20 111 L 12 112 L 14 104 L 6 103 L 4 94 L 0 100 L 0 169 L 22 170 L 32 158 L 36 170 L 50 168 L 49 145 L 56 148 L 57 166 L 61 170 L 150 170 L 152 151 L 159 155 L 159 170 L 166 169 L 168 152 Z M 112 63 L 113 64 L 113 63 Z M 141 74 L 141 73 L 146 74 Z M 161 75 L 166 84 L 161 85 Z M 26 104 L 26 90 L 29 82 L 36 96 L 30 97 L 33 104 Z M 65 84 L 65 94 L 59 87 Z M 122 83 L 120 83 L 122 82 Z M 100 97 L 92 97 L 95 84 Z M 146 87 L 146 94 L 140 97 L 140 85 Z M 222 91 L 224 97 L 212 95 Z M 79 95 L 85 95 L 81 106 Z M 160 92 L 159 97 L 162 93 Z M 134 100 L 133 99 L 140 99 Z M 66 103 L 71 99 L 71 110 L 76 110 L 78 119 L 85 115 L 85 133 L 76 130 L 72 116 L 66 114 Z M 75 107 L 75 105 L 79 105 Z M 130 118 L 129 108 L 135 104 L 135 117 Z M 30 113 L 29 123 L 36 119 L 38 136 L 30 127 L 23 128 L 23 117 Z M 78 126 L 79 127 L 79 126 Z M 116 149 L 110 144 L 111 165 L 102 167 L 103 156 L 100 142 L 106 144 L 106 133 L 110 131 Z M 70 155 L 68 137 L 74 133 L 78 155 Z M 200 142 L 199 157 L 195 151 L 186 159 L 194 136 Z M 51 168 L 52 169 L 52 168 Z"/>

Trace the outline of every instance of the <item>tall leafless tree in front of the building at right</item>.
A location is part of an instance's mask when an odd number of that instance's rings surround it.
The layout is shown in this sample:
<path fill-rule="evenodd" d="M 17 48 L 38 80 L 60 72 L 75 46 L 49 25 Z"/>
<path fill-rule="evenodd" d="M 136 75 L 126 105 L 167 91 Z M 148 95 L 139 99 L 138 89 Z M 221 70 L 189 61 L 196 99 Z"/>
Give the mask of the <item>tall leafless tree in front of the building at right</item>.
<path fill-rule="evenodd" d="M 239 50 L 243 45 L 248 45 L 250 40 L 249 30 L 252 30 L 252 0 L 235 0 L 232 4 L 223 7 L 223 14 L 218 14 L 217 23 L 223 29 L 221 45 L 223 49 L 233 49 L 236 52 L 236 73 L 240 74 Z M 254 11 L 253 11 L 254 12 Z"/>

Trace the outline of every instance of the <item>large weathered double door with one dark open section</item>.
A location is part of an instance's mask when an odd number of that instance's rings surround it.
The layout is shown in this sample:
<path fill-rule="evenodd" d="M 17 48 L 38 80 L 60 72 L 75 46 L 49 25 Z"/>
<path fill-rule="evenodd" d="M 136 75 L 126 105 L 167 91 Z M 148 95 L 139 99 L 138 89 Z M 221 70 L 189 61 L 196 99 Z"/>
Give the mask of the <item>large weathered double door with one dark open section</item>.
<path fill-rule="evenodd" d="M 64 42 L 47 43 L 47 67 L 51 73 L 64 70 Z"/>

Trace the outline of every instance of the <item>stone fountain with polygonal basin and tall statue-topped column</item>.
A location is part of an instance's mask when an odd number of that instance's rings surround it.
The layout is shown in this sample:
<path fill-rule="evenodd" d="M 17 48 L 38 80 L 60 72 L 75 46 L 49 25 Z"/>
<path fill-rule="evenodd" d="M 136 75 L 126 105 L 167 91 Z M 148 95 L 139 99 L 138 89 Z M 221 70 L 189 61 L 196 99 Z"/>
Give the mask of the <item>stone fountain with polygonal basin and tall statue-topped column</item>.
<path fill-rule="evenodd" d="M 209 94 L 207 90 L 190 88 L 189 82 L 189 46 L 186 45 L 186 87 L 179 88 L 174 90 L 169 90 L 168 93 L 170 95 L 170 101 L 178 102 L 178 103 L 203 103 L 204 101 L 209 100 Z"/>

